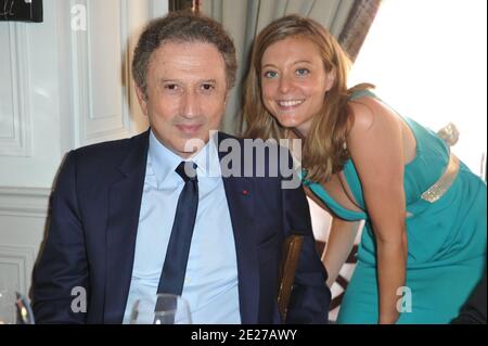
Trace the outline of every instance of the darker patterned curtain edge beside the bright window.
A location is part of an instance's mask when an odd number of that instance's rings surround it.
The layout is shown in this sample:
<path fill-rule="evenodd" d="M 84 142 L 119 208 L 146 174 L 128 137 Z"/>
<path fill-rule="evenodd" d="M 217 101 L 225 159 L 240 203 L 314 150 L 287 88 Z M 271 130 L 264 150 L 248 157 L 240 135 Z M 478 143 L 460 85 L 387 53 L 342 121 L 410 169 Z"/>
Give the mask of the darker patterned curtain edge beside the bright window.
<path fill-rule="evenodd" d="M 349 12 L 338 41 L 352 61 L 358 56 L 381 2 L 382 0 L 357 0 Z"/>

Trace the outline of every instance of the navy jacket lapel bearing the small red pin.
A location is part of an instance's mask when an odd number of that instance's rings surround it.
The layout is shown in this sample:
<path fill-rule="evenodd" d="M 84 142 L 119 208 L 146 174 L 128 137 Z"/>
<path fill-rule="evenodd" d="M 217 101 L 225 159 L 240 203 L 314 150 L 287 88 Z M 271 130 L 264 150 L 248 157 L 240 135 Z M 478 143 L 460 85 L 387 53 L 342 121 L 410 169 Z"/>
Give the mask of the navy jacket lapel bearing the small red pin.
<path fill-rule="evenodd" d="M 242 141 L 239 141 L 239 149 L 234 148 L 229 151 L 220 151 L 221 140 L 228 138 L 230 137 L 219 132 L 219 158 L 222 165 L 222 159 L 229 157 L 228 155 L 232 153 L 235 155 L 233 156 L 234 164 L 236 164 L 236 161 L 241 161 L 241 177 L 226 177 L 224 171 L 229 167 L 221 166 L 221 170 L 237 257 L 241 322 L 252 324 L 258 322 L 259 304 L 259 270 L 256 242 L 253 232 L 255 222 L 253 203 L 254 183 L 252 179 L 245 178 L 243 175 L 244 153 L 242 150 Z M 234 140 L 237 141 L 236 139 Z M 229 161 L 226 162 L 228 163 Z"/>

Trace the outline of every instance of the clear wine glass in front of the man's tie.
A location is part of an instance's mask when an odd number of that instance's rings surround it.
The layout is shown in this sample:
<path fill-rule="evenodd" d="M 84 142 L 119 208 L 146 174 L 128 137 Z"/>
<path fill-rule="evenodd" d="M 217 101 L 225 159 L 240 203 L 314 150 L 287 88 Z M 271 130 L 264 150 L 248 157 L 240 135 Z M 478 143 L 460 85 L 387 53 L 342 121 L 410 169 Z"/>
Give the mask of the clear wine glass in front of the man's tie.
<path fill-rule="evenodd" d="M 191 324 L 188 302 L 175 294 L 157 294 L 155 299 L 143 297 L 134 302 L 130 324 Z"/>

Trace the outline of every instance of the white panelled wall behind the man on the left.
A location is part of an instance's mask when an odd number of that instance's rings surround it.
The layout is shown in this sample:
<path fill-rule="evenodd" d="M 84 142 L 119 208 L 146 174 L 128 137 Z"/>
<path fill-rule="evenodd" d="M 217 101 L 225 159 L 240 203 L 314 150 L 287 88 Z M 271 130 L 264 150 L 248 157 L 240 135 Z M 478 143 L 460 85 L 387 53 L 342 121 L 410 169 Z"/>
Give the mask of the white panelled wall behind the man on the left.
<path fill-rule="evenodd" d="M 0 286 L 28 291 L 64 154 L 146 128 L 128 52 L 167 12 L 157 0 L 49 0 L 43 23 L 0 22 Z"/>

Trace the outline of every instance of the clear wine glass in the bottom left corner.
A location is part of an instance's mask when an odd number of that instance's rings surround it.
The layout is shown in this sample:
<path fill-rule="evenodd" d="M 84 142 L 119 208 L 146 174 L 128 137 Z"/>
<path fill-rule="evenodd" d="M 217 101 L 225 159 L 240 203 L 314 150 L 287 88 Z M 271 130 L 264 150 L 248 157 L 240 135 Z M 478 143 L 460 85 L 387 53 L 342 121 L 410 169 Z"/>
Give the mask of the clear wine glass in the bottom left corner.
<path fill-rule="evenodd" d="M 0 324 L 34 324 L 33 309 L 26 296 L 0 290 Z"/>

